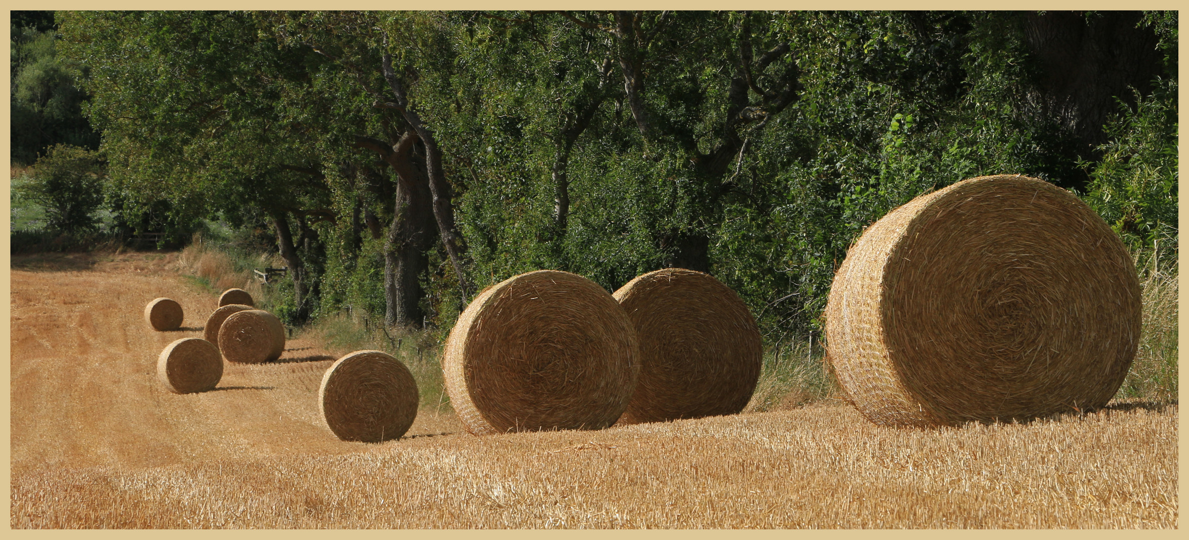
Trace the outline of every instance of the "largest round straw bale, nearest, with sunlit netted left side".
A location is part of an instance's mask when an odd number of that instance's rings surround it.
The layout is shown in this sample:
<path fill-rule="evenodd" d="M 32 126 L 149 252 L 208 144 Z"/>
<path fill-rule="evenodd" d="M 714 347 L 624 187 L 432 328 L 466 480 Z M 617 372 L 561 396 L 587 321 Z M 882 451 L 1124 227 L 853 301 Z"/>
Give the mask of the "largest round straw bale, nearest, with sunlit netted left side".
<path fill-rule="evenodd" d="M 868 228 L 826 304 L 830 362 L 875 423 L 1011 421 L 1106 404 L 1140 290 L 1084 202 L 1026 176 L 921 195 Z"/>

